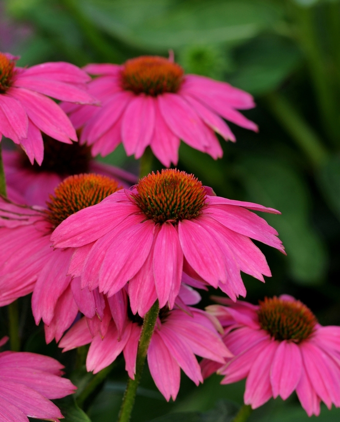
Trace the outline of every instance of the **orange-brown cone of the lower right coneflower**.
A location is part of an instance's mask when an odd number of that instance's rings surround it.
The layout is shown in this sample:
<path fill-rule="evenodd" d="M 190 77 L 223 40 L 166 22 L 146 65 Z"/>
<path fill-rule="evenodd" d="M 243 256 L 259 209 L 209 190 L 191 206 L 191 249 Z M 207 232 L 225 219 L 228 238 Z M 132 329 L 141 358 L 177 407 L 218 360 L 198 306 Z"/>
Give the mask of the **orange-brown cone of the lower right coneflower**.
<path fill-rule="evenodd" d="M 300 343 L 313 334 L 318 323 L 312 311 L 300 300 L 288 301 L 265 298 L 259 301 L 258 321 L 263 330 L 275 340 L 291 340 Z"/>

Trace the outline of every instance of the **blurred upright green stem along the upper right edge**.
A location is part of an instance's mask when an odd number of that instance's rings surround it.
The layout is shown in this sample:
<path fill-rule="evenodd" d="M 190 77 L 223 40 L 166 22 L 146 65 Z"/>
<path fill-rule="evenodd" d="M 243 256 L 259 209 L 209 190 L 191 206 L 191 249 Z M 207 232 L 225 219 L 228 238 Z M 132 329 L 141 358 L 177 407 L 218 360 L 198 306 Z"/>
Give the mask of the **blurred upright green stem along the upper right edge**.
<path fill-rule="evenodd" d="M 306 54 L 324 129 L 334 145 L 339 146 L 339 107 L 324 49 L 320 45 L 321 37 L 317 32 L 315 11 L 315 7 L 295 6 L 300 43 Z"/>

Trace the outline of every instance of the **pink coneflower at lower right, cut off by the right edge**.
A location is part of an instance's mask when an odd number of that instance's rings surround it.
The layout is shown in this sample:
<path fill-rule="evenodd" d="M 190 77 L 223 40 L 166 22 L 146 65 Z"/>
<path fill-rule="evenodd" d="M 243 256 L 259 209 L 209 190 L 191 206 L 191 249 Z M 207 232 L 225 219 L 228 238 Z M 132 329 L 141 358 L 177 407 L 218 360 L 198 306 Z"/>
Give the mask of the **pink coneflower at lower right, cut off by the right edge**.
<path fill-rule="evenodd" d="M 229 307 L 207 310 L 225 327 L 224 343 L 235 354 L 219 369 L 221 384 L 247 378 L 244 403 L 253 409 L 271 397 L 286 400 L 296 390 L 308 416 L 320 414 L 323 401 L 340 406 L 340 327 L 322 327 L 299 300 L 265 298 L 255 306 L 219 299 Z M 203 362 L 204 377 L 216 367 Z M 215 368 L 216 370 L 217 368 Z"/>

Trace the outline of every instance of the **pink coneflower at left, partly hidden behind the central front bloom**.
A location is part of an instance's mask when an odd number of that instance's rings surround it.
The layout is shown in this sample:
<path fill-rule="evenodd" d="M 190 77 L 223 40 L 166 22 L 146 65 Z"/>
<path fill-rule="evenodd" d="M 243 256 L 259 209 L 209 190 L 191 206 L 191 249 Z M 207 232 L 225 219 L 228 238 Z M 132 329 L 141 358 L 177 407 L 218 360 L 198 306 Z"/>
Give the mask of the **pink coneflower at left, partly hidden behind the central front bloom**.
<path fill-rule="evenodd" d="M 51 232 L 68 215 L 117 189 L 116 180 L 88 174 L 66 178 L 50 196 L 47 209 L 0 197 L 0 306 L 33 291 L 34 318 L 49 327 L 48 341 L 61 338 L 79 309 L 93 317 L 101 300 L 97 291 L 80 291 L 79 278 L 68 276 L 73 249 L 53 250 Z"/>

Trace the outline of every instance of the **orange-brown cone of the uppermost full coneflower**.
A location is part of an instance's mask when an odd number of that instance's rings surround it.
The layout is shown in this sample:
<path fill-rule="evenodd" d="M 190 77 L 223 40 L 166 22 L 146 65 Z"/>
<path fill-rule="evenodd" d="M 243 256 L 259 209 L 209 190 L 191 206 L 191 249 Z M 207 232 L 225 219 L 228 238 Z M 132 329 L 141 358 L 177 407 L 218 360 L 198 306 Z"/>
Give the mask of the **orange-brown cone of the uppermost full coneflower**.
<path fill-rule="evenodd" d="M 177 92 L 183 81 L 181 66 L 159 56 L 141 56 L 127 60 L 121 71 L 121 87 L 135 94 L 156 96 Z"/>

